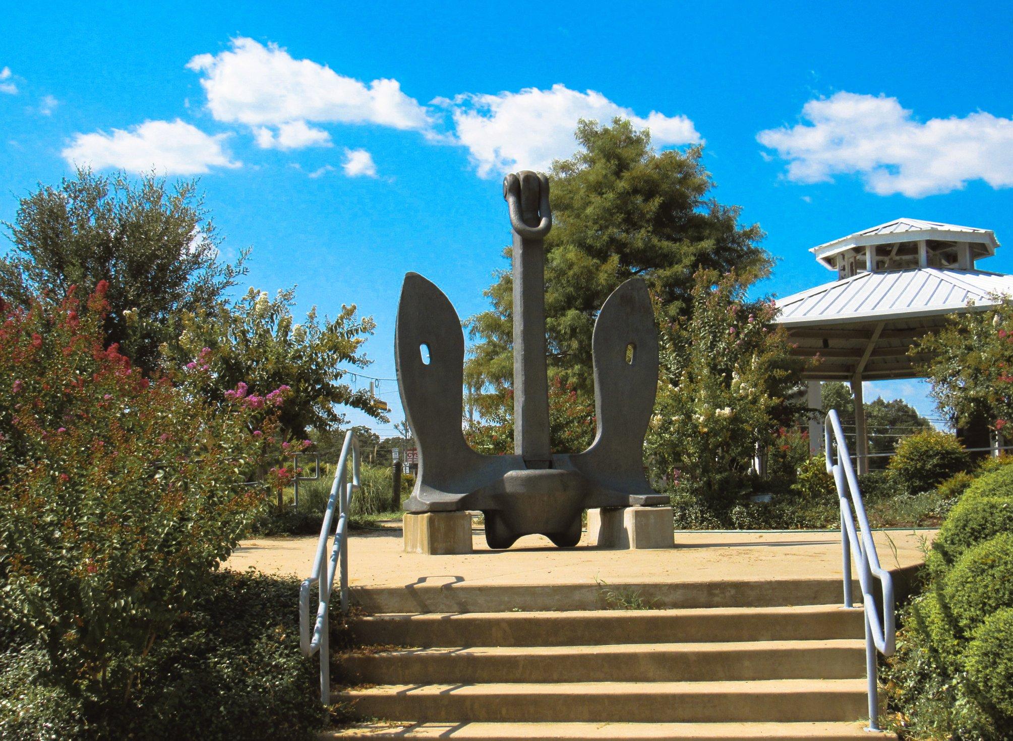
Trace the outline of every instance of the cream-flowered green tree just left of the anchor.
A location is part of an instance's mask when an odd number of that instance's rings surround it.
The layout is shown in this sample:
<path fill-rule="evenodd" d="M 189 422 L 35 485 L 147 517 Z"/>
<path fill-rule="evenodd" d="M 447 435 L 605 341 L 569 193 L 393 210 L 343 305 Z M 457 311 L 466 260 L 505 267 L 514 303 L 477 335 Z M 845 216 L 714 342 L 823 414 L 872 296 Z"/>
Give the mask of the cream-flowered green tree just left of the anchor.
<path fill-rule="evenodd" d="M 194 383 L 209 399 L 241 389 L 249 403 L 269 406 L 267 395 L 284 386 L 290 398 L 279 422 L 286 441 L 306 437 L 310 428 L 343 424 L 341 406 L 386 421 L 368 389 L 343 383 L 346 372 L 340 367 L 371 362 L 362 345 L 373 333 L 373 319 L 359 318 L 355 306 L 342 306 L 333 320 L 321 322 L 314 308 L 302 324 L 295 324 L 294 303 L 291 289 L 270 299 L 251 287 L 231 307 L 219 304 L 184 313 L 176 361 L 191 373 L 206 372 Z M 172 346 L 164 350 L 173 353 Z"/>

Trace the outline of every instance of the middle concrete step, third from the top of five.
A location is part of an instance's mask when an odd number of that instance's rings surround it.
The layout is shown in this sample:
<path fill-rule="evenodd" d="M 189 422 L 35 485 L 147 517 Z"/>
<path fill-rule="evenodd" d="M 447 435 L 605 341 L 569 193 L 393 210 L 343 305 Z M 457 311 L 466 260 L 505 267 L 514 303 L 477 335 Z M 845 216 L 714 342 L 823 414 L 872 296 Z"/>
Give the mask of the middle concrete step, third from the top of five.
<path fill-rule="evenodd" d="M 336 658 L 341 676 L 349 682 L 374 684 L 851 679 L 865 674 L 865 642 L 859 639 L 480 646 Z"/>

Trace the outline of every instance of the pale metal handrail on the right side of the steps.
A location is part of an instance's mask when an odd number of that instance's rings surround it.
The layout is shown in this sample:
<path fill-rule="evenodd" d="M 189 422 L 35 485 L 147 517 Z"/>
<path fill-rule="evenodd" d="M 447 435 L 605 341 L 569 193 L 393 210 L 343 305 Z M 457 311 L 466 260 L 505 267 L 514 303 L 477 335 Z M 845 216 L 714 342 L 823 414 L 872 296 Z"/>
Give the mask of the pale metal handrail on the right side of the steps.
<path fill-rule="evenodd" d="M 833 433 L 833 439 L 831 434 Z M 827 454 L 827 471 L 834 475 L 837 494 L 841 503 L 841 551 L 844 570 L 844 606 L 851 607 L 852 583 L 851 560 L 854 554 L 858 568 L 858 583 L 862 590 L 862 607 L 865 612 L 865 673 L 868 680 L 869 730 L 879 731 L 879 694 L 876 651 L 883 656 L 891 656 L 895 647 L 897 629 L 893 608 L 893 577 L 879 565 L 876 545 L 872 541 L 869 519 L 865 515 L 862 492 L 858 487 L 858 477 L 851 465 L 848 443 L 841 429 L 841 419 L 836 409 L 827 414 L 824 429 L 824 449 Z M 832 445 L 832 443 L 834 443 Z M 832 457 L 831 451 L 836 451 Z M 834 461 L 836 458 L 836 462 Z M 859 530 L 856 532 L 855 519 Z M 881 608 L 878 611 L 873 596 L 873 579 L 878 579 L 881 589 Z"/>

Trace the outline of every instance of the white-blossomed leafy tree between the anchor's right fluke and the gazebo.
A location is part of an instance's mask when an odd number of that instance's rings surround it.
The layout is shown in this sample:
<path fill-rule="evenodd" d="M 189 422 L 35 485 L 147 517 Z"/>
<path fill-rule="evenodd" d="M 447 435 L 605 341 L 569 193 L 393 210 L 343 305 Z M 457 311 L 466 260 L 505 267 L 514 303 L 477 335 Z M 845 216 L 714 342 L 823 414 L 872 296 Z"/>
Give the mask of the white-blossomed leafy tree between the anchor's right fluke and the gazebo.
<path fill-rule="evenodd" d="M 745 301 L 734 274 L 700 271 L 687 315 L 663 328 L 645 451 L 653 478 L 702 497 L 717 516 L 750 485 L 757 449 L 782 444 L 803 407 L 790 401 L 805 360 L 775 306 Z"/>

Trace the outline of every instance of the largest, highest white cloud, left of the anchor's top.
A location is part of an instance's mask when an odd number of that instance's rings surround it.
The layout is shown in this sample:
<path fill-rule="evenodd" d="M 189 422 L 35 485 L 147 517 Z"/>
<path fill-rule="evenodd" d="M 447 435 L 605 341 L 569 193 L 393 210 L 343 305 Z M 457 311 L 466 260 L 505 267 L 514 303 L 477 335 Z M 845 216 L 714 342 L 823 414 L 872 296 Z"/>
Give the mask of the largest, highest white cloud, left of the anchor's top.
<path fill-rule="evenodd" d="M 218 55 L 193 57 L 186 67 L 202 75 L 212 115 L 221 121 L 259 127 L 257 143 L 281 142 L 284 129 L 301 125 L 313 136 L 292 137 L 286 149 L 321 143 L 317 124 L 376 124 L 402 130 L 427 130 L 425 107 L 401 92 L 397 80 L 364 83 L 308 59 L 294 59 L 276 44 L 233 38 Z M 264 128 L 279 129 L 275 135 Z M 302 143 L 298 143 L 302 142 Z M 261 144 L 261 146 L 264 146 Z"/>

